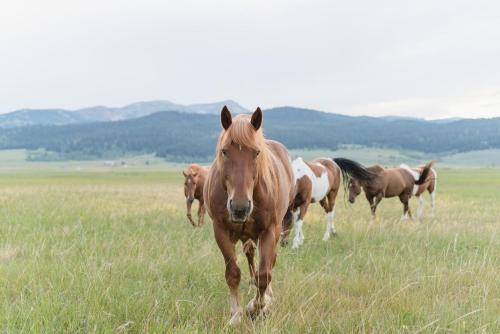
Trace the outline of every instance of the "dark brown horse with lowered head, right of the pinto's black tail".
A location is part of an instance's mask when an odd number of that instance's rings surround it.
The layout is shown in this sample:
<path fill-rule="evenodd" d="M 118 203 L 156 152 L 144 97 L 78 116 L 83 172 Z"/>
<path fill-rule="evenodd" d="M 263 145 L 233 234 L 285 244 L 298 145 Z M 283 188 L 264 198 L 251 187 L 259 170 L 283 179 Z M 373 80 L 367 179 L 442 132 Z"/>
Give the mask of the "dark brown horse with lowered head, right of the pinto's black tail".
<path fill-rule="evenodd" d="M 361 193 L 361 188 L 365 192 L 366 199 L 370 203 L 372 218 L 376 218 L 377 206 L 382 198 L 399 197 L 403 203 L 402 220 L 412 218 L 410 210 L 410 198 L 417 192 L 419 186 L 424 184 L 431 171 L 434 162 L 427 163 L 421 173 L 411 171 L 408 167 L 385 168 L 381 165 L 374 165 L 368 168 L 354 161 L 343 163 L 356 164 L 359 168 L 365 169 L 373 175 L 371 180 L 360 180 L 356 178 L 347 179 L 349 191 L 349 202 L 354 203 L 356 197 Z"/>

